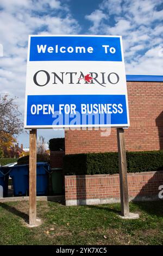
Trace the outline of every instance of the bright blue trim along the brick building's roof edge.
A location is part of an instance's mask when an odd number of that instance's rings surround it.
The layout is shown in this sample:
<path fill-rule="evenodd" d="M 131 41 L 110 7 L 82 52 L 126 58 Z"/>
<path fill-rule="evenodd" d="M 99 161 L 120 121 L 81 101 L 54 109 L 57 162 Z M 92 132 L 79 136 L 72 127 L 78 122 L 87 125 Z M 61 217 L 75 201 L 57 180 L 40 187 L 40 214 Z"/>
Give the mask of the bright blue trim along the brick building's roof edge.
<path fill-rule="evenodd" d="M 163 82 L 163 76 L 126 75 L 127 82 Z"/>

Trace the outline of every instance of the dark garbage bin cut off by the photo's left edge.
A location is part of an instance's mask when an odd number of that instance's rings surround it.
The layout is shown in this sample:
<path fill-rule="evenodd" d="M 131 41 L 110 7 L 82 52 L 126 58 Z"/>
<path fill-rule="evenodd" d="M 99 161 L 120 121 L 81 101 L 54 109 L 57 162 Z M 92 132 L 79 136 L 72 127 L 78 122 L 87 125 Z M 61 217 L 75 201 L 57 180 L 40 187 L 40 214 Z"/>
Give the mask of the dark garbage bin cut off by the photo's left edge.
<path fill-rule="evenodd" d="M 0 186 L 3 188 L 3 197 L 8 196 L 8 181 L 10 168 L 8 166 L 0 167 Z"/>

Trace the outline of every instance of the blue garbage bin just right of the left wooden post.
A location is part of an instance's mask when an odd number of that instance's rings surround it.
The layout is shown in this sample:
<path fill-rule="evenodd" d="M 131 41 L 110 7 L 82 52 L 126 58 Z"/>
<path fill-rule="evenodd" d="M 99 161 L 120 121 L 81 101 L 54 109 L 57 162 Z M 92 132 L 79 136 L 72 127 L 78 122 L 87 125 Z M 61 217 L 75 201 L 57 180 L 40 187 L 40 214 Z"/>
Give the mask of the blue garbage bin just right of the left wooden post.
<path fill-rule="evenodd" d="M 48 193 L 49 164 L 37 162 L 36 191 L 37 196 L 45 196 Z"/>

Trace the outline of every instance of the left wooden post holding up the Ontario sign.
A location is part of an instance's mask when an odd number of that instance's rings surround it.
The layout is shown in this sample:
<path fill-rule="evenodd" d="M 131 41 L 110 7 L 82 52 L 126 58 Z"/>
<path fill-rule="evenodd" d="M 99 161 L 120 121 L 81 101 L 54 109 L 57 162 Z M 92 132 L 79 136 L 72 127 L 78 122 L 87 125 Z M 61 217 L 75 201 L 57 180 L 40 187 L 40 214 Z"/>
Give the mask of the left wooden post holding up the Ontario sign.
<path fill-rule="evenodd" d="M 29 135 L 29 225 L 36 225 L 36 141 L 37 130 Z"/>

